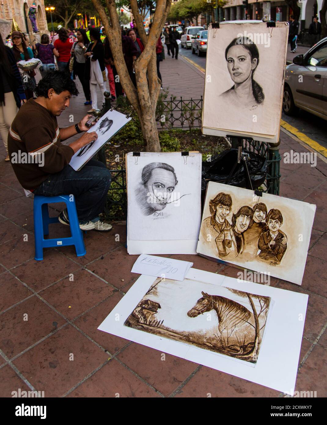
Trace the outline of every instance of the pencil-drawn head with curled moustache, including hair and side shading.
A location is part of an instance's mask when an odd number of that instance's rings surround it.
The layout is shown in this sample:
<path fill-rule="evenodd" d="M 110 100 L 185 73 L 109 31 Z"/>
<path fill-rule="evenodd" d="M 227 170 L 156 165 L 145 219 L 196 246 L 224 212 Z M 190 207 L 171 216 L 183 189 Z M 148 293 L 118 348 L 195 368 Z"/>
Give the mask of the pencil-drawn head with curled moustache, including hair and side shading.
<path fill-rule="evenodd" d="M 178 180 L 174 168 L 164 162 L 151 162 L 142 170 L 141 182 L 135 190 L 136 201 L 144 215 L 161 211 L 170 204 Z"/>

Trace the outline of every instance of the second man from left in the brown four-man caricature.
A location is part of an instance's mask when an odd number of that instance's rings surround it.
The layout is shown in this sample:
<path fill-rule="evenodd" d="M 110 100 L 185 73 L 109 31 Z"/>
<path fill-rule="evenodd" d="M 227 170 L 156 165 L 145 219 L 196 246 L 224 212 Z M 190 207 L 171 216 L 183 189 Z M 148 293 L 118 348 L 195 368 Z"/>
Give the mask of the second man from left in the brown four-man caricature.
<path fill-rule="evenodd" d="M 241 207 L 233 214 L 231 227 L 224 229 L 216 239 L 219 256 L 232 260 L 244 251 L 243 232 L 253 224 L 253 210 L 248 206 Z"/>

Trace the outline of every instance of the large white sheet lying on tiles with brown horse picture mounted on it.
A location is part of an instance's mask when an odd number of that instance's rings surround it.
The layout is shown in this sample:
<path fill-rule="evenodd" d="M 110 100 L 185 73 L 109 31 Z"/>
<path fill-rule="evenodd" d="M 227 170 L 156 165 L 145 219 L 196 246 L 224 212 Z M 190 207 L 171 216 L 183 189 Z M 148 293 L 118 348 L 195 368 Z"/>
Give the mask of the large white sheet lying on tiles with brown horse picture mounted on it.
<path fill-rule="evenodd" d="M 307 300 L 191 268 L 183 282 L 141 275 L 98 329 L 293 395 Z"/>

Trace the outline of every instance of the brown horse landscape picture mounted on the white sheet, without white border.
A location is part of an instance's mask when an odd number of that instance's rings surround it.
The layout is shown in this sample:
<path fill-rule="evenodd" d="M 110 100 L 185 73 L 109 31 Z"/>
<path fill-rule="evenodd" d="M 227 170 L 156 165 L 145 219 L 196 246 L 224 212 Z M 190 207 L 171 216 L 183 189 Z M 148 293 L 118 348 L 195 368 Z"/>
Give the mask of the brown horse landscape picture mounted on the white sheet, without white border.
<path fill-rule="evenodd" d="M 157 278 L 124 325 L 256 363 L 270 301 L 197 280 Z"/>

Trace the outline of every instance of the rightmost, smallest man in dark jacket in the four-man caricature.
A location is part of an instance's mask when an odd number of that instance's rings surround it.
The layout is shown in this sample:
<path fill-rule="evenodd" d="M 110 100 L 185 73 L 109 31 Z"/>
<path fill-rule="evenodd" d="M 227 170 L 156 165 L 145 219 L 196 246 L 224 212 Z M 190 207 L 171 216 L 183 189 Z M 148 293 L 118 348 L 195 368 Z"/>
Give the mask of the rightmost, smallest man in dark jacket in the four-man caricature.
<path fill-rule="evenodd" d="M 279 230 L 283 224 L 282 213 L 279 210 L 270 210 L 266 223 L 268 230 L 259 238 L 258 248 L 261 250 L 259 257 L 270 261 L 273 265 L 279 264 L 287 249 L 287 244 L 282 242 L 286 235 Z"/>

